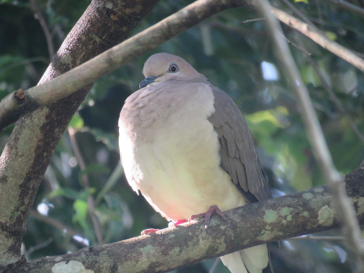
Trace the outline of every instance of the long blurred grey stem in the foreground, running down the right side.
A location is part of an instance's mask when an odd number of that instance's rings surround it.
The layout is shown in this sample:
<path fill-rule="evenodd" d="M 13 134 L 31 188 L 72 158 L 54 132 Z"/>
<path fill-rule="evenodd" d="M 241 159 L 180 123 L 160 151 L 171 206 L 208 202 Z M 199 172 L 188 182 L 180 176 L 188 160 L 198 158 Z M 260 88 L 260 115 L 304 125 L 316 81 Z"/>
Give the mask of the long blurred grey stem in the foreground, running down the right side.
<path fill-rule="evenodd" d="M 341 178 L 332 162 L 332 157 L 313 109 L 308 90 L 298 72 L 298 68 L 294 63 L 287 44 L 282 39 L 282 30 L 272 15 L 272 7 L 264 0 L 258 0 L 257 3 L 266 19 L 266 25 L 269 28 L 268 32 L 276 45 L 277 58 L 281 61 L 286 76 L 292 84 L 298 102 L 301 105 L 302 118 L 309 136 L 309 141 L 313 147 L 315 158 L 320 163 L 321 169 L 331 185 L 331 191 L 334 197 L 333 203 L 341 220 L 344 234 L 356 257 L 356 266 L 359 272 L 363 272 L 364 266 L 361 257 L 363 257 L 364 249 L 361 245 L 362 238 L 359 223 L 355 215 L 355 209 L 345 191 L 343 178 Z M 274 14 L 276 14 L 275 10 L 277 9 L 273 8 Z M 306 26 L 308 28 L 308 25 Z"/>

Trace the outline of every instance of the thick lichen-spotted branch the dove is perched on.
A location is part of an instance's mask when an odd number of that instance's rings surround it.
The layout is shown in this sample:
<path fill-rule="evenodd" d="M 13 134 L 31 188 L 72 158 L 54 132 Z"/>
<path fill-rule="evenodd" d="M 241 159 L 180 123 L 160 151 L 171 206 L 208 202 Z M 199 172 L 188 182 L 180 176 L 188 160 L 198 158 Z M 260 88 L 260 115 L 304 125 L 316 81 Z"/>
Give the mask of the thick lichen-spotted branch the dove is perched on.
<path fill-rule="evenodd" d="M 345 177 L 361 224 L 364 224 L 363 181 L 364 167 Z M 151 236 L 14 264 L 7 272 L 41 273 L 52 269 L 66 272 L 71 266 L 96 273 L 168 272 L 242 248 L 339 227 L 332 202 L 329 187 L 317 187 L 227 211 L 227 221 L 213 215 L 208 233 L 200 220 Z"/>

